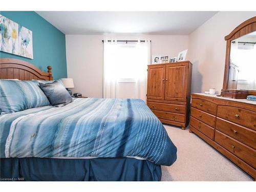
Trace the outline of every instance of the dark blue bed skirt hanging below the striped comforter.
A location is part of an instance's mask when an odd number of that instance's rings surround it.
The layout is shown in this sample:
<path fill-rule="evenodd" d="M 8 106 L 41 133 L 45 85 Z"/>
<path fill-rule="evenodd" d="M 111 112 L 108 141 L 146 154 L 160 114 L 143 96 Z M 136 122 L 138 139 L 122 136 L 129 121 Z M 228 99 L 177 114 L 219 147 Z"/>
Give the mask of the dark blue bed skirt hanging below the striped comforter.
<path fill-rule="evenodd" d="M 161 166 L 134 158 L 1 158 L 1 181 L 160 181 Z"/>

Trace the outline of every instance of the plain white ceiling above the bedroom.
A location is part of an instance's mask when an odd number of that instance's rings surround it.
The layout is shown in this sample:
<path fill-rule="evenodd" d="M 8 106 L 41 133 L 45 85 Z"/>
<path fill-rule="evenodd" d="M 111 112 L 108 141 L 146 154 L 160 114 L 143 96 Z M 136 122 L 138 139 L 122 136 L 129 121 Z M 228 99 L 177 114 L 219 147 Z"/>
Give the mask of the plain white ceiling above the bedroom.
<path fill-rule="evenodd" d="M 37 11 L 65 34 L 188 35 L 216 11 Z"/>

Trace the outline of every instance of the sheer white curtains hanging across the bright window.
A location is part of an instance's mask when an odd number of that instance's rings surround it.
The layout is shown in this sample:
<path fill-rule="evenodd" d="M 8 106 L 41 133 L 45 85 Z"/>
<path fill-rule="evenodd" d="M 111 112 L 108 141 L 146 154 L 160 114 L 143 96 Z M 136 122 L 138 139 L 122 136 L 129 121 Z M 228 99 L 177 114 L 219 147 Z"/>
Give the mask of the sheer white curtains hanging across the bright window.
<path fill-rule="evenodd" d="M 147 65 L 151 62 L 151 42 L 119 43 L 104 40 L 104 98 L 146 100 Z"/>

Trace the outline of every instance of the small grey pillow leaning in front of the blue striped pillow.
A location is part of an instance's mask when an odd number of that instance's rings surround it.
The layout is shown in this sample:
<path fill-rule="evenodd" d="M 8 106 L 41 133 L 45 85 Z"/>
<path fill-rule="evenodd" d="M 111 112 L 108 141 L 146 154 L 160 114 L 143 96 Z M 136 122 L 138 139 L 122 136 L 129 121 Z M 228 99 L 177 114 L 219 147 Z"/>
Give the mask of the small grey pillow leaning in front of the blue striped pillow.
<path fill-rule="evenodd" d="M 39 82 L 39 86 L 53 106 L 64 106 L 73 101 L 69 92 L 63 84 L 58 81 L 50 83 Z"/>

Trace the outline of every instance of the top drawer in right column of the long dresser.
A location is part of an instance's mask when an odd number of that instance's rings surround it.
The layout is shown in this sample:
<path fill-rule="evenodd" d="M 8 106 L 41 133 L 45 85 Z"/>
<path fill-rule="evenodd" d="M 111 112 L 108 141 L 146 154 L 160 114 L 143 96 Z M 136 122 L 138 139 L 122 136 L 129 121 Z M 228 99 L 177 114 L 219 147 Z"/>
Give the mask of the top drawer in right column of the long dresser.
<path fill-rule="evenodd" d="M 234 106 L 218 106 L 217 116 L 256 130 L 256 113 Z"/>

